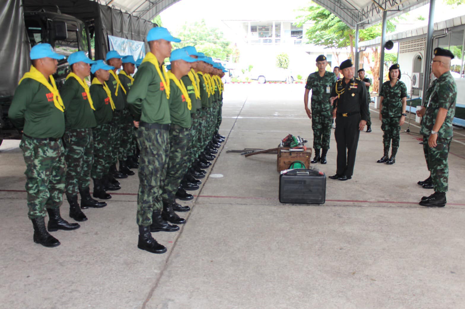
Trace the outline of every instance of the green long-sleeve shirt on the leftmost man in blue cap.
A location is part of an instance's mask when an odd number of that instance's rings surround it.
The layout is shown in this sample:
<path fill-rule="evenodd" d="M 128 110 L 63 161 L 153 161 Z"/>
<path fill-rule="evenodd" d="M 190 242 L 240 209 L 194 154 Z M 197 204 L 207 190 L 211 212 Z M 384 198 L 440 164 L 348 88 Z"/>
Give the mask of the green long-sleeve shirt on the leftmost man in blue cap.
<path fill-rule="evenodd" d="M 53 103 L 46 86 L 26 78 L 16 88 L 8 117 L 24 134 L 38 138 L 60 138 L 65 133 L 65 116 Z"/>

